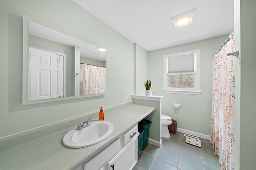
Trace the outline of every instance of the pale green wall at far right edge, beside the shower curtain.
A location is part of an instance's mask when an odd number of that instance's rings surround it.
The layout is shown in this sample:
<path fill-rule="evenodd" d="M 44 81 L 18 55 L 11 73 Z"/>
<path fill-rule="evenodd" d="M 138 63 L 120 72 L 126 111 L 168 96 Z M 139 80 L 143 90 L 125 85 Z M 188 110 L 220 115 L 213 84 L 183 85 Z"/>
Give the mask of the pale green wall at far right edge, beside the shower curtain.
<path fill-rule="evenodd" d="M 256 1 L 234 0 L 235 168 L 256 167 Z"/>

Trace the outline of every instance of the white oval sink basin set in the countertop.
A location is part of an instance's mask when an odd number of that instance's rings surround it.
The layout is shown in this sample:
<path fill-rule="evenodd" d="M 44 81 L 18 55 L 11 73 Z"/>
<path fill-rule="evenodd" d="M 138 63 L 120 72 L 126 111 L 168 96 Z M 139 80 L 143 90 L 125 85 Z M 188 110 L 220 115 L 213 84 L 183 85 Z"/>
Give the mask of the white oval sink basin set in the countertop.
<path fill-rule="evenodd" d="M 62 142 L 70 148 L 82 148 L 94 145 L 106 139 L 113 131 L 109 121 L 91 121 L 91 125 L 81 130 L 76 127 L 66 133 Z"/>

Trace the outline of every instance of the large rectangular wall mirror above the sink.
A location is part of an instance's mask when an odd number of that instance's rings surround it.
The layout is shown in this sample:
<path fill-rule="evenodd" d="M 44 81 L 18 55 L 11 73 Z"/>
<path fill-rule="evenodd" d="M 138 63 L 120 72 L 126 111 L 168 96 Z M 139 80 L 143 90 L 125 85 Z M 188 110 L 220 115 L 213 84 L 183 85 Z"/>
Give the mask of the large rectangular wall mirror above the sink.
<path fill-rule="evenodd" d="M 23 104 L 106 93 L 106 51 L 30 16 L 23 24 Z"/>

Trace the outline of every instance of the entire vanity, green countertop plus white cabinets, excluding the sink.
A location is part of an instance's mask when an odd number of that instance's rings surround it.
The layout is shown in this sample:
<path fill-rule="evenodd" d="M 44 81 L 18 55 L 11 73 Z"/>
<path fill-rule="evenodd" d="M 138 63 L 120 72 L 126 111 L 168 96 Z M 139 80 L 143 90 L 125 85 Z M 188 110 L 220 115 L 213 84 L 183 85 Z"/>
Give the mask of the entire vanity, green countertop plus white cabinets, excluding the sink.
<path fill-rule="evenodd" d="M 137 123 L 150 113 L 154 114 L 154 110 L 155 107 L 130 104 L 105 111 L 105 120 L 111 122 L 114 129 L 102 142 L 84 148 L 68 148 L 62 138 L 74 128 L 69 127 L 1 152 L 0 169 L 118 170 L 120 166 L 122 170 L 130 169 L 137 162 Z"/>

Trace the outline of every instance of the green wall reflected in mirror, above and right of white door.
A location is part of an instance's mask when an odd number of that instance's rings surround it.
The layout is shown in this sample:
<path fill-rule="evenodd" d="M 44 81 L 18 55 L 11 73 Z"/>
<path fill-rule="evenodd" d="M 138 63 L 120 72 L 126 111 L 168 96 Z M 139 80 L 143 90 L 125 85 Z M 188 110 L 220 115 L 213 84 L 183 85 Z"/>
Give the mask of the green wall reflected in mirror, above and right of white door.
<path fill-rule="evenodd" d="M 29 45 L 66 54 L 66 94 L 67 96 L 75 96 L 74 82 L 72 81 L 74 79 L 73 70 L 75 65 L 73 47 L 36 37 L 34 35 L 29 35 Z"/>

